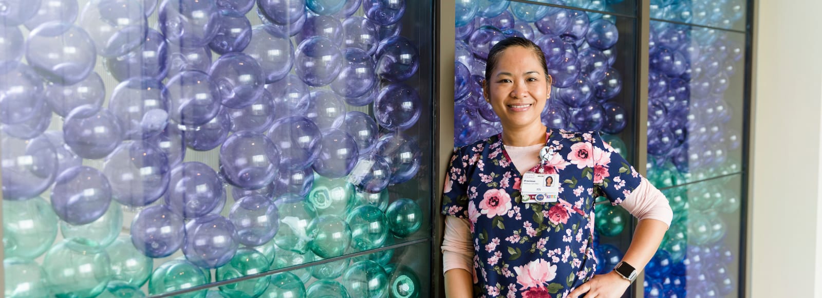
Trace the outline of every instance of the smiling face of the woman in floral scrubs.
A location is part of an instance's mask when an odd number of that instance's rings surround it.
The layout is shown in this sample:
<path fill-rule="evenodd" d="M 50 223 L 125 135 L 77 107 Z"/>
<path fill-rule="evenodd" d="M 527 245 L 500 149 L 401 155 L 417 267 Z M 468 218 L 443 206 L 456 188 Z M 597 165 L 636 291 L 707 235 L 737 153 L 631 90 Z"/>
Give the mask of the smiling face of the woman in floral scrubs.
<path fill-rule="evenodd" d="M 530 49 L 512 46 L 497 57 L 483 95 L 490 100 L 503 128 L 542 125 L 540 114 L 551 94 L 545 77 L 542 65 Z"/>

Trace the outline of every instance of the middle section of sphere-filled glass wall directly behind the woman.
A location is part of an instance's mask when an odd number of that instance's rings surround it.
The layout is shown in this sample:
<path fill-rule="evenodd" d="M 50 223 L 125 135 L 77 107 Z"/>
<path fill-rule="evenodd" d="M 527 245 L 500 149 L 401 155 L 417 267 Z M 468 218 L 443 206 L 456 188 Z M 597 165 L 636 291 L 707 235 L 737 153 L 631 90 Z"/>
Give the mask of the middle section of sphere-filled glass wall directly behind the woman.
<path fill-rule="evenodd" d="M 485 60 L 493 44 L 520 36 L 543 49 L 553 79 L 543 123 L 549 128 L 600 131 L 628 161 L 639 162 L 635 5 L 635 1 L 598 0 L 458 1 L 455 146 L 501 132 L 499 119 L 483 98 Z M 601 274 L 612 270 L 630 244 L 633 217 L 607 200 L 598 202 L 594 245 Z"/>

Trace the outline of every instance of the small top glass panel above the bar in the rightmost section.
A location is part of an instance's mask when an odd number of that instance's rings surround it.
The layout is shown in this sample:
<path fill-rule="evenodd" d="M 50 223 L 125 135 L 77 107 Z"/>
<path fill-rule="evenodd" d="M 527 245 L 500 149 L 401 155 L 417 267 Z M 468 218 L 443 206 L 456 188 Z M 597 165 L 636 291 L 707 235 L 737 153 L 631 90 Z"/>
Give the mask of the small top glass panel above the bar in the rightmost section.
<path fill-rule="evenodd" d="M 746 0 L 651 0 L 651 19 L 745 30 Z"/>

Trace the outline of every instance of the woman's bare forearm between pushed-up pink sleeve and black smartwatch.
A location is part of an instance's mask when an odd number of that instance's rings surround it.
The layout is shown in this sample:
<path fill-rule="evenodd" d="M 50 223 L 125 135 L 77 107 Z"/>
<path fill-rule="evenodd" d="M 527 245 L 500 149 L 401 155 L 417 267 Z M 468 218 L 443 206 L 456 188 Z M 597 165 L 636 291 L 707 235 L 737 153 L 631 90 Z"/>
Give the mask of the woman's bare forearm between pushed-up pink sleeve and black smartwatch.
<path fill-rule="evenodd" d="M 630 241 L 630 246 L 625 253 L 623 261 L 641 272 L 645 265 L 656 254 L 659 244 L 663 241 L 667 224 L 655 219 L 644 219 L 636 225 L 634 239 Z"/>

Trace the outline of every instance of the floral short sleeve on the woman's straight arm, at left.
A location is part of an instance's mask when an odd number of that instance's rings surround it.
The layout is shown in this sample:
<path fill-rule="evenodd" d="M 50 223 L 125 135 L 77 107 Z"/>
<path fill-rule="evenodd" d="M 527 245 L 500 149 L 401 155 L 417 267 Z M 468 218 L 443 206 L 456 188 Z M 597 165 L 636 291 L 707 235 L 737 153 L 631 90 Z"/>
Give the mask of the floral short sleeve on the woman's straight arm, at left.
<path fill-rule="evenodd" d="M 446 184 L 442 189 L 442 214 L 468 218 L 467 156 L 459 148 L 454 150 L 446 171 Z"/>

